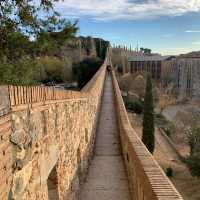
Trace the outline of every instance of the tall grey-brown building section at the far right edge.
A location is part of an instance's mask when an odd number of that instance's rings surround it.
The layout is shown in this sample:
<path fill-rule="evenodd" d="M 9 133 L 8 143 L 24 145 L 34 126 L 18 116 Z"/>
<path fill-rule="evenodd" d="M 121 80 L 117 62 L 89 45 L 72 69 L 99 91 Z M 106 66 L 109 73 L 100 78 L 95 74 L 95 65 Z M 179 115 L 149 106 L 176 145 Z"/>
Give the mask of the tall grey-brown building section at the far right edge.
<path fill-rule="evenodd" d="M 200 99 L 200 58 L 177 57 L 164 61 L 162 86 L 168 87 L 178 100 Z"/>

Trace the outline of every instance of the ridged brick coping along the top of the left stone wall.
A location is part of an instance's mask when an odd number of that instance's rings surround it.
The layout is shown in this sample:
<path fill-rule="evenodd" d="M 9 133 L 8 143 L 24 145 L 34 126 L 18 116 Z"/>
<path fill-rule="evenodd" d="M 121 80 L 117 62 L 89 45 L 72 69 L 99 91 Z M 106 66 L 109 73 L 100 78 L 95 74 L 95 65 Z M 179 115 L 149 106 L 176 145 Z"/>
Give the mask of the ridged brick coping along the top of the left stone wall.
<path fill-rule="evenodd" d="M 27 106 L 37 107 L 62 101 L 88 99 L 96 95 L 96 90 L 105 79 L 107 57 L 100 69 L 81 91 L 59 90 L 46 86 L 0 86 L 0 117 L 11 110 L 26 109 Z"/>

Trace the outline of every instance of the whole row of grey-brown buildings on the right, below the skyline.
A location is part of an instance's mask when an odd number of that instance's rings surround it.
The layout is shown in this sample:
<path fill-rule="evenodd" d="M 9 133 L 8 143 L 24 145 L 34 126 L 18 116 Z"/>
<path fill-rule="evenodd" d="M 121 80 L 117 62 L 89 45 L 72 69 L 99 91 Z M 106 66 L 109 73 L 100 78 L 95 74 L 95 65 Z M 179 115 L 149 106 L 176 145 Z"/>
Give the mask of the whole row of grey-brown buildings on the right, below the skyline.
<path fill-rule="evenodd" d="M 179 99 L 200 99 L 200 57 L 140 55 L 128 61 L 129 72 L 151 73 L 163 88 L 171 84 L 173 94 Z"/>

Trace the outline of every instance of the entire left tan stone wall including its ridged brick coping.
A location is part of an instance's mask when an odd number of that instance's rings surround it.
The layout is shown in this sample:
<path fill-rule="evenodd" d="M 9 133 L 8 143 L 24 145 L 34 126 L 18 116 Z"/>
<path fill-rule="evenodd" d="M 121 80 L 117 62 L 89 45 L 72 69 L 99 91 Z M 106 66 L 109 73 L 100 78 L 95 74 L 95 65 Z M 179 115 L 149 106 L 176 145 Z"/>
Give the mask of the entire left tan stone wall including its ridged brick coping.
<path fill-rule="evenodd" d="M 92 157 L 106 64 L 81 92 L 7 88 L 11 110 L 2 109 L 0 118 L 1 200 L 47 200 L 50 178 L 60 200 L 77 199 Z"/>

